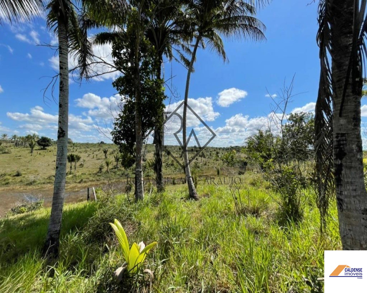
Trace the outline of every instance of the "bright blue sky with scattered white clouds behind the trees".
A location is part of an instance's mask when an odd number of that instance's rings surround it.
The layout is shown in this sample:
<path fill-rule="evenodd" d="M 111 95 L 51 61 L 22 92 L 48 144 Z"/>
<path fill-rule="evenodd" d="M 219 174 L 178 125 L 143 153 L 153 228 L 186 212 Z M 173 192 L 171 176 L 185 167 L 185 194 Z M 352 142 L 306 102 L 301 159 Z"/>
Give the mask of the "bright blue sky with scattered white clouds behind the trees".
<path fill-rule="evenodd" d="M 209 50 L 199 50 L 190 83 L 189 105 L 217 133 L 210 145 L 242 144 L 266 120 L 271 103 L 271 98 L 266 97 L 268 91 L 279 94 L 284 81 L 289 84 L 294 74 L 293 93 L 302 94 L 293 98 L 288 112 L 313 110 L 319 59 L 317 5 L 307 5 L 309 2 L 276 0 L 260 10 L 257 17 L 267 27 L 267 40 L 260 43 L 226 40 L 229 63 L 223 63 Z M 44 100 L 42 89 L 51 81 L 50 76 L 55 75 L 58 58 L 54 50 L 36 43 L 57 43 L 42 18 L 30 24 L 0 27 L 0 132 L 10 136 L 37 132 L 55 139 L 57 104 L 50 91 L 47 97 L 51 99 Z M 108 56 L 110 46 L 95 48 L 95 52 L 112 60 Z M 171 102 L 172 108 L 183 98 L 186 70 L 175 62 L 165 63 L 164 69 L 166 79 L 171 74 L 174 76 L 172 85 L 178 94 Z M 116 77 L 115 73 L 107 74 L 100 80 L 70 84 L 71 139 L 108 141 L 96 128 L 98 125 L 108 132 L 104 128 L 110 124 L 111 112 L 120 99 L 112 87 Z M 54 94 L 57 97 L 57 86 Z M 362 114 L 367 116 L 367 105 L 362 108 Z M 195 121 L 188 127 L 198 133 L 203 129 Z M 204 133 L 202 136 L 205 140 Z"/>

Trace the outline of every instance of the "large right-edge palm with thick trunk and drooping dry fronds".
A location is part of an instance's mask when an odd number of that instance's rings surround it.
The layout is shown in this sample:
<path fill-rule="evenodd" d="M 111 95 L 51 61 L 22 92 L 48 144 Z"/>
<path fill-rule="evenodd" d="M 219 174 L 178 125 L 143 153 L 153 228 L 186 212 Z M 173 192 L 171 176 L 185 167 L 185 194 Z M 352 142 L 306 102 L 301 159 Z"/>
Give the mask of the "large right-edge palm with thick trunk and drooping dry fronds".
<path fill-rule="evenodd" d="M 367 249 L 367 192 L 360 129 L 362 69 L 367 53 L 366 5 L 366 0 L 319 3 L 321 74 L 315 109 L 318 207 L 325 226 L 328 204 L 336 191 L 339 233 L 345 250 Z"/>

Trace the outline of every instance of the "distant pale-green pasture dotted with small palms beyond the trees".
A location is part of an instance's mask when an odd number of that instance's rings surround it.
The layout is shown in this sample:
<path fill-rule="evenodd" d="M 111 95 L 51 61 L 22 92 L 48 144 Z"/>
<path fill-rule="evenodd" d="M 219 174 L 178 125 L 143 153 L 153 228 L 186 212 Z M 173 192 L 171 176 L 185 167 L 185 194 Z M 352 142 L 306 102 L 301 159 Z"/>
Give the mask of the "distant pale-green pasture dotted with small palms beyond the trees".
<path fill-rule="evenodd" d="M 3 143 L 4 152 L 0 153 L 0 216 L 4 215 L 15 203 L 21 202 L 24 195 L 34 195 L 45 200 L 45 205 L 50 206 L 55 174 L 56 146 L 47 150 L 35 149 L 30 154 L 29 147 L 15 147 L 14 144 Z M 107 172 L 106 159 L 103 150 L 108 149 L 107 158 L 112 161 Z M 169 147 L 172 154 L 179 158 L 181 153 L 178 146 Z M 152 144 L 144 147 L 144 176 L 150 182 L 155 178 L 153 172 Z M 193 149 L 195 150 L 195 149 Z M 229 152 L 229 148 L 212 148 L 204 150 L 205 157 L 197 157 L 192 163 L 195 176 L 225 176 L 238 174 L 238 168 L 229 168 L 221 160 L 221 156 Z M 125 169 L 121 161 L 117 165 L 115 155 L 119 155 L 114 144 L 99 143 L 72 143 L 69 144 L 68 153 L 78 154 L 81 159 L 77 163 L 76 172 L 68 164 L 66 174 L 66 202 L 79 202 L 87 198 L 87 187 L 115 189 L 124 192 L 128 177 L 134 177 L 134 168 Z M 194 153 L 192 153 L 194 154 Z M 190 154 L 190 155 L 192 155 Z M 243 156 L 238 153 L 237 156 Z M 99 170 L 99 165 L 103 169 Z M 182 169 L 172 157 L 163 154 L 163 174 L 165 178 L 176 179 L 179 182 L 184 174 Z M 181 180 L 182 181 L 182 180 Z M 182 181 L 183 182 L 183 181 Z"/>

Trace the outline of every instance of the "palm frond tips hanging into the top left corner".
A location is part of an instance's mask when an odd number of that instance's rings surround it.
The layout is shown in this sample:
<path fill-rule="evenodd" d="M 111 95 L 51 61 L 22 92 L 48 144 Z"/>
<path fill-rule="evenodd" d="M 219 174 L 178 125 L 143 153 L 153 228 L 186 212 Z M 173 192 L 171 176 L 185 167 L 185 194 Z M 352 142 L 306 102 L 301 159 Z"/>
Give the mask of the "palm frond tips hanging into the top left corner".
<path fill-rule="evenodd" d="M 4 20 L 8 22 L 29 20 L 42 12 L 42 0 L 1 0 L 0 25 Z"/>

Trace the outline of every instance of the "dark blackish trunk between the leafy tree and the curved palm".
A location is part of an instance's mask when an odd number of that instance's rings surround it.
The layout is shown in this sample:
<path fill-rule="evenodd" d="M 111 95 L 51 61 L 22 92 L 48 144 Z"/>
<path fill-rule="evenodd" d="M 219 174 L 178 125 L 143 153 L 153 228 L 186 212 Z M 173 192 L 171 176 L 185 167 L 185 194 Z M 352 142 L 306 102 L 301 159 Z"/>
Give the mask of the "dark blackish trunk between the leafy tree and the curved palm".
<path fill-rule="evenodd" d="M 162 57 L 159 57 L 159 65 L 157 70 L 157 78 L 161 78 L 161 67 L 162 67 Z M 157 191 L 164 191 L 163 184 L 163 173 L 162 173 L 162 143 L 163 143 L 163 131 L 164 131 L 164 121 L 163 121 L 163 112 L 158 113 L 156 124 L 154 127 L 154 145 L 155 145 L 155 153 L 154 153 L 154 171 L 156 173 L 156 184 Z"/>

